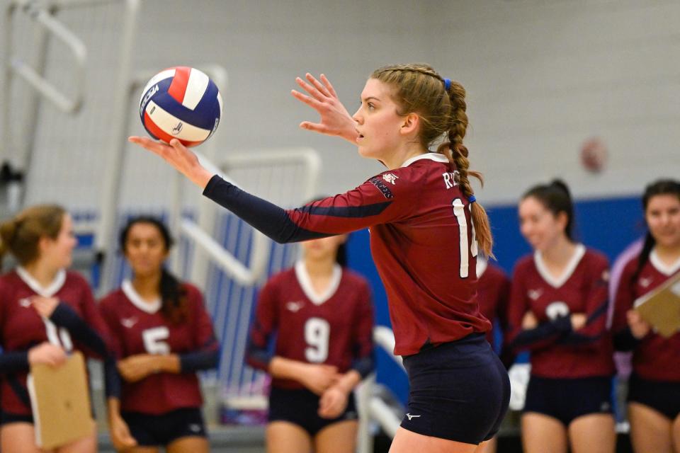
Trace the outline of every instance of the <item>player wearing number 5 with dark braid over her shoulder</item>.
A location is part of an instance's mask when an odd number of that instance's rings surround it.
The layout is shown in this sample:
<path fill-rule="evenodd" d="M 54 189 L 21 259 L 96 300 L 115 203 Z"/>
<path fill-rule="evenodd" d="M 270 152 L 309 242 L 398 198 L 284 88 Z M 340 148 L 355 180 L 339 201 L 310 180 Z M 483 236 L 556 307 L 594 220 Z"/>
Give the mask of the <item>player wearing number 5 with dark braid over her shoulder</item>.
<path fill-rule="evenodd" d="M 111 437 L 132 436 L 132 452 L 208 452 L 196 372 L 217 366 L 219 345 L 199 290 L 163 267 L 172 245 L 166 226 L 135 217 L 120 234 L 132 280 L 99 309 L 114 338 L 123 378 Z M 112 405 L 113 406 L 113 405 Z"/>

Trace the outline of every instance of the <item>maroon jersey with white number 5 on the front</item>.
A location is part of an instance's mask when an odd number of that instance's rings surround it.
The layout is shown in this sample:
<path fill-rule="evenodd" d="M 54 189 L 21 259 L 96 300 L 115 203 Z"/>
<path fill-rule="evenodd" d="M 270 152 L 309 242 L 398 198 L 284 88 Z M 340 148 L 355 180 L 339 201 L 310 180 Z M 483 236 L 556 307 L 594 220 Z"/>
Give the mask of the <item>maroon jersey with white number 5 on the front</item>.
<path fill-rule="evenodd" d="M 158 415 L 178 408 L 203 404 L 198 377 L 184 369 L 183 357 L 200 350 L 217 351 L 210 316 L 203 296 L 193 285 L 182 284 L 188 304 L 183 323 L 174 324 L 161 313 L 161 300 L 149 304 L 135 291 L 129 280 L 99 304 L 103 319 L 113 336 L 118 358 L 137 354 L 177 354 L 182 372 L 151 374 L 137 382 L 123 380 L 122 411 Z"/>

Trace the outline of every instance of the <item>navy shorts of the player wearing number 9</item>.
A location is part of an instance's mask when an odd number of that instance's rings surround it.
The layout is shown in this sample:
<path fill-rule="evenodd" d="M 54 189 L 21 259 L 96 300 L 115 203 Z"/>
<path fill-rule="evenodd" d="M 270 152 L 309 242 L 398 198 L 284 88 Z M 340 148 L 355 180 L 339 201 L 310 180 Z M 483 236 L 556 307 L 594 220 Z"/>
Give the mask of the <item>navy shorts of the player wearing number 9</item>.
<path fill-rule="evenodd" d="M 270 422 L 295 423 L 312 437 L 328 425 L 358 418 L 353 392 L 348 395 L 347 407 L 338 418 L 319 417 L 318 411 L 319 396 L 312 391 L 307 389 L 277 389 L 276 387 L 271 389 L 268 420 Z"/>

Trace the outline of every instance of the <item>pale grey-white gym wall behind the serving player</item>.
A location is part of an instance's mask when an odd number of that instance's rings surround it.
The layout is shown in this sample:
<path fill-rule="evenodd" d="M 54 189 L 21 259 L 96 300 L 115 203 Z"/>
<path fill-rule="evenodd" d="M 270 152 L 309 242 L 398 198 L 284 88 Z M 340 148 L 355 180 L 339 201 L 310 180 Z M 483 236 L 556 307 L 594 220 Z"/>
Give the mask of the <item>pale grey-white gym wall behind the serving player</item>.
<path fill-rule="evenodd" d="M 30 202 L 96 209 L 106 171 L 116 8 L 99 6 L 86 21 L 72 11 L 61 15 L 91 44 L 91 98 L 74 119 L 42 107 Z M 324 71 L 353 110 L 375 67 L 429 62 L 467 88 L 466 144 L 472 168 L 487 178 L 480 200 L 514 201 L 554 176 L 578 197 L 601 197 L 638 193 L 680 169 L 678 23 L 680 3 L 672 0 L 147 0 L 134 59 L 137 69 L 152 71 L 224 66 L 229 86 L 213 138 L 222 152 L 314 147 L 324 161 L 323 193 L 352 188 L 380 166 L 362 161 L 351 144 L 297 127 L 315 115 L 290 96 L 295 76 Z M 29 49 L 26 27 L 17 33 L 19 46 Z M 67 82 L 69 58 L 54 48 L 48 69 Z M 135 115 L 131 105 L 131 132 L 141 133 Z M 597 176 L 578 157 L 592 136 L 610 151 Z M 153 156 L 130 148 L 123 202 L 164 205 L 170 175 Z"/>

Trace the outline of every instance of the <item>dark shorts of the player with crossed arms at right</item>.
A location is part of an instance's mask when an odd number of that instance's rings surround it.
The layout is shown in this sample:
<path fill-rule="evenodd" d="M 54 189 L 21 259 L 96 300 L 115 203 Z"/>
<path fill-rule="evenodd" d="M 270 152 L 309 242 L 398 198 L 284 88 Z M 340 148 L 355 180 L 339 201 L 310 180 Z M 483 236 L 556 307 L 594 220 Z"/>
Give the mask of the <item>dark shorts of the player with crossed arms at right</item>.
<path fill-rule="evenodd" d="M 611 377 L 552 379 L 531 376 L 523 411 L 542 413 L 568 427 L 592 413 L 612 413 Z"/>

